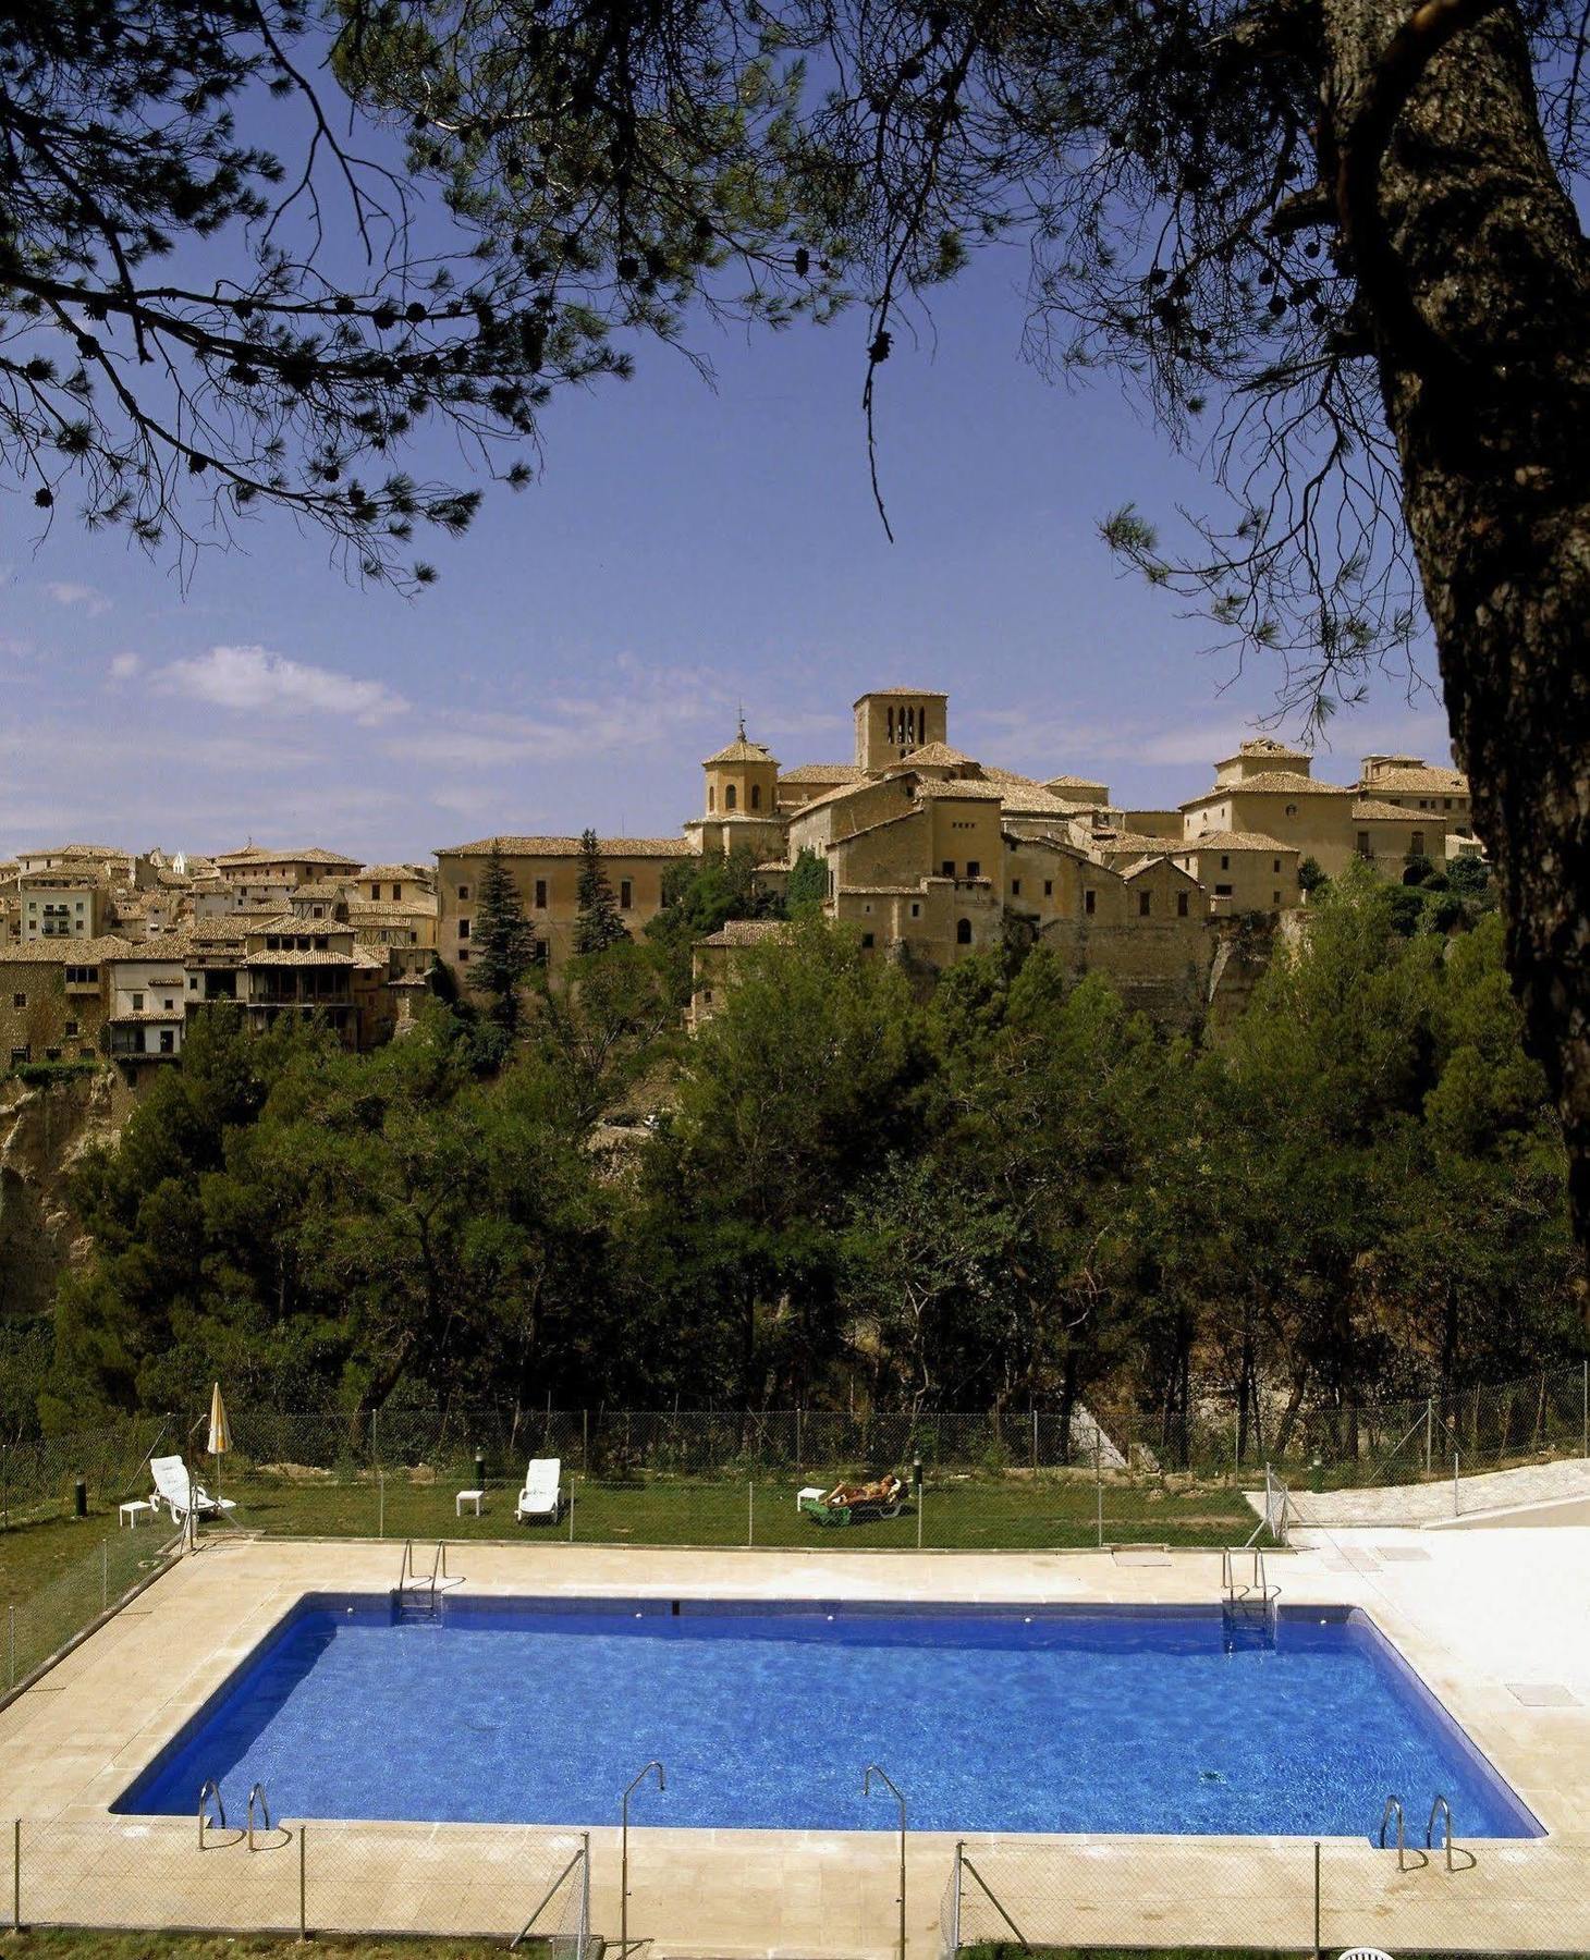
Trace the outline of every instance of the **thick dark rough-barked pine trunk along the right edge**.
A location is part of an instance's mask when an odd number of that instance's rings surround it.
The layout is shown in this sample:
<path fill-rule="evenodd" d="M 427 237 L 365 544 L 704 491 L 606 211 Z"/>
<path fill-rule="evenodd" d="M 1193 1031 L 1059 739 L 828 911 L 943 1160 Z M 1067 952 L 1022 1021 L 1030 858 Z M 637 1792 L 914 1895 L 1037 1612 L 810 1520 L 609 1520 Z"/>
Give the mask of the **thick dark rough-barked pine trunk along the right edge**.
<path fill-rule="evenodd" d="M 1341 145 L 1406 0 L 1323 0 Z M 1590 1243 L 1590 261 L 1512 8 L 1423 69 L 1361 263 L 1457 759 Z"/>

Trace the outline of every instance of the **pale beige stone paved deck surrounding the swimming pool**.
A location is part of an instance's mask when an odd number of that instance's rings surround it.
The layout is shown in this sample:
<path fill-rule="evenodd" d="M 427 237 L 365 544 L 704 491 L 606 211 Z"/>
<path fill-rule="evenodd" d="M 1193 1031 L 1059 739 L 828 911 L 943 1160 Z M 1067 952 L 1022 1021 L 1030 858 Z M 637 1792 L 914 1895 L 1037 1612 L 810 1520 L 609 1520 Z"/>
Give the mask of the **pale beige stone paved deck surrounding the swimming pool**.
<path fill-rule="evenodd" d="M 1410 1852 L 1410 1870 L 1398 1870 L 1392 1852 L 1325 1840 L 1323 1944 L 1590 1952 L 1590 1529 L 1300 1539 L 1312 1543 L 1268 1554 L 1284 1605 L 1365 1607 L 1549 1833 L 1478 1840 L 1465 1848 L 1474 1864 L 1451 1874 L 1439 1854 Z M 576 1835 L 310 1821 L 300 1842 L 300 1823 L 286 1819 L 269 1850 L 222 1842 L 200 1854 L 192 1821 L 110 1815 L 302 1593 L 388 1593 L 398 1556 L 392 1543 L 216 1533 L 0 1711 L 0 1819 L 24 1821 L 24 1923 L 296 1931 L 302 1852 L 308 1921 L 322 1931 L 518 1931 Z M 472 1595 L 1208 1605 L 1221 1590 L 1217 1552 L 1143 1550 L 645 1550 L 543 1539 L 453 1546 L 449 1570 Z M 953 1707 L 945 1727 L 955 1735 Z M 976 1735 L 957 1742 L 976 1748 Z M 1423 1823 L 1408 1819 L 1410 1840 L 1423 1844 Z M 1457 1833 L 1463 1842 L 1461 1817 Z M 618 1938 L 618 1829 L 590 1838 L 592 1925 Z M 974 1837 L 967 1852 L 1033 1940 L 1314 1938 L 1310 1840 Z M 886 1960 L 898 1952 L 896 1860 L 892 1833 L 637 1827 L 629 1931 L 657 1960 Z M 951 1862 L 951 1837 L 912 1833 L 910 1960 L 939 1952 Z M 0 1840 L 0 1878 L 10 1876 Z M 970 1886 L 967 1927 L 992 1929 L 974 1899 Z"/>

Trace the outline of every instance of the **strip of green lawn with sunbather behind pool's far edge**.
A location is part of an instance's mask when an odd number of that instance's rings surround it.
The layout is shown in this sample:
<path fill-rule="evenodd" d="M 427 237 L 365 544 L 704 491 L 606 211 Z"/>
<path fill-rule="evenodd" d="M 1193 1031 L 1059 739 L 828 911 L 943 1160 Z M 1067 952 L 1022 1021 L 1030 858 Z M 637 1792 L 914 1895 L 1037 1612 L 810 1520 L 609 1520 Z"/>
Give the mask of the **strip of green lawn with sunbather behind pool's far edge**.
<path fill-rule="evenodd" d="M 794 1544 L 829 1550 L 906 1548 L 918 1543 L 918 1515 L 829 1527 L 796 1513 L 798 1478 L 755 1484 L 694 1480 L 572 1480 L 572 1517 L 514 1523 L 518 1480 L 486 1480 L 482 1515 L 457 1517 L 455 1492 L 474 1482 L 472 1466 L 416 1482 L 392 1474 L 378 1486 L 323 1480 L 286 1482 L 233 1476 L 235 1521 L 255 1531 L 314 1537 L 520 1539 L 572 1537 L 604 1544 Z M 1104 1543 L 1239 1544 L 1257 1519 L 1235 1490 L 1106 1480 Z M 963 1550 L 1086 1546 L 1100 1537 L 1098 1490 L 1090 1478 L 961 1478 L 929 1484 L 921 1501 L 921 1544 Z"/>

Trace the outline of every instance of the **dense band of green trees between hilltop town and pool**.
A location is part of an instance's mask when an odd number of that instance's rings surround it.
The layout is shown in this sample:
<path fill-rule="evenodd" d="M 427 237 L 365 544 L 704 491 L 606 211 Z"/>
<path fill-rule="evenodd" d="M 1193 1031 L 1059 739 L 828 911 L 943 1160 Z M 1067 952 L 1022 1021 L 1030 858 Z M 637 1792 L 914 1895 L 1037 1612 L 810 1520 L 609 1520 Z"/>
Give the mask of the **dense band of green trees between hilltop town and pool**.
<path fill-rule="evenodd" d="M 1563 1147 L 1500 923 L 1408 935 L 1394 902 L 1339 880 L 1219 1043 L 1041 945 L 923 992 L 818 917 L 749 951 L 692 1039 L 645 941 L 531 994 L 500 1066 L 441 1004 L 365 1056 L 200 1017 L 76 1172 L 94 1250 L 41 1413 L 222 1376 L 349 1411 L 1174 1417 L 1214 1380 L 1274 1441 L 1561 1362 Z"/>

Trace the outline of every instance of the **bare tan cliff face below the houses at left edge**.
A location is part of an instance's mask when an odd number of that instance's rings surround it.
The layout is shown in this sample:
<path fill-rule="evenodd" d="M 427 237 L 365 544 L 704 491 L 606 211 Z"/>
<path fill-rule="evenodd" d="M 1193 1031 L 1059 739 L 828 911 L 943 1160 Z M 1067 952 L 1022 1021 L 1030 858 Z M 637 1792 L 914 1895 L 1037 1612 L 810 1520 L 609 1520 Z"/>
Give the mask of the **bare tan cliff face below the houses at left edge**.
<path fill-rule="evenodd" d="M 67 1176 L 120 1115 L 110 1074 L 47 1088 L 0 1082 L 0 1319 L 49 1311 L 63 1266 L 86 1252 Z"/>

